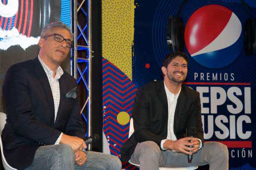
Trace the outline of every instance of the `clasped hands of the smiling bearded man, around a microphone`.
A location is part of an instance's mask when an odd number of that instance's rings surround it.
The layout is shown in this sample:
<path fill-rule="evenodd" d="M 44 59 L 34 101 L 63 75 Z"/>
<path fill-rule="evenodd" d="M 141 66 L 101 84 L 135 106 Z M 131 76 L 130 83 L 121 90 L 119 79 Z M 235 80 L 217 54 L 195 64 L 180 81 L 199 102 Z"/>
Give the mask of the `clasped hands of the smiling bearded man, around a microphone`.
<path fill-rule="evenodd" d="M 190 148 L 188 146 L 192 147 Z M 177 141 L 166 140 L 166 142 L 163 143 L 163 148 L 179 151 L 187 155 L 192 155 L 193 153 L 196 153 L 198 151 L 198 147 L 199 141 L 197 138 L 193 137 L 181 138 Z"/>

